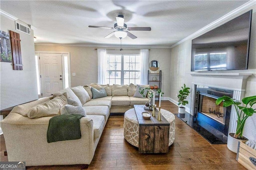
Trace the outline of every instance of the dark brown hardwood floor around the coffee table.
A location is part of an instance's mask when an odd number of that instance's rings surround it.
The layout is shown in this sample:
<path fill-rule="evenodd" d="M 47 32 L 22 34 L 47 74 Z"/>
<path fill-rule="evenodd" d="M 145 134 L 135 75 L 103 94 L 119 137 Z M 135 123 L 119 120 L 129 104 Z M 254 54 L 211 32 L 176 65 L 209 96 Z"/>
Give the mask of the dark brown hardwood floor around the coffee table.
<path fill-rule="evenodd" d="M 158 103 L 156 103 L 158 105 Z M 162 109 L 178 113 L 170 101 L 162 101 Z M 236 161 L 236 154 L 226 144 L 210 144 L 186 123 L 175 117 L 174 143 L 167 154 L 139 154 L 138 148 L 124 139 L 124 116 L 110 116 L 88 169 L 97 170 L 180 170 L 180 169 L 246 169 Z M 1 161 L 8 161 L 4 136 L 0 137 Z M 34 170 L 75 170 L 80 166 L 34 166 Z"/>

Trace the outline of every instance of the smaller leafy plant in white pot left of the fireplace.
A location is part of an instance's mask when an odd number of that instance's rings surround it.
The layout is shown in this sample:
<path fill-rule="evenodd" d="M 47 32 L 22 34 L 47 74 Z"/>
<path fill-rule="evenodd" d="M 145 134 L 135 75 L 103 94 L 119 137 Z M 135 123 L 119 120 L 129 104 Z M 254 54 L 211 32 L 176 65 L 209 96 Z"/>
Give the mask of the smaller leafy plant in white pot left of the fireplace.
<path fill-rule="evenodd" d="M 186 85 L 184 84 L 183 87 L 181 87 L 181 90 L 179 91 L 179 95 L 177 96 L 178 97 L 178 105 L 181 105 L 179 107 L 179 110 L 178 110 L 178 113 L 186 113 L 186 108 L 183 107 L 185 106 L 186 104 L 188 104 L 188 101 L 186 101 L 187 97 L 188 97 L 188 94 L 190 93 L 189 91 L 189 87 L 186 87 Z"/>

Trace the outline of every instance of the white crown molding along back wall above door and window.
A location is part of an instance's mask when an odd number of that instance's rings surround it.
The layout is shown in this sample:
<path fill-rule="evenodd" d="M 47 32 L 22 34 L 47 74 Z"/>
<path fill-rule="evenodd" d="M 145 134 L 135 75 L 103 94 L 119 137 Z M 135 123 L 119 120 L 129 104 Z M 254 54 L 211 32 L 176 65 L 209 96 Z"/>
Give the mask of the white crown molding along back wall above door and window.
<path fill-rule="evenodd" d="M 120 48 L 120 45 L 107 45 L 107 44 L 70 44 L 70 43 L 35 43 L 35 45 L 42 46 L 71 46 L 71 47 L 116 47 Z M 122 45 L 123 48 L 171 48 L 170 46 L 158 46 L 158 45 Z"/>

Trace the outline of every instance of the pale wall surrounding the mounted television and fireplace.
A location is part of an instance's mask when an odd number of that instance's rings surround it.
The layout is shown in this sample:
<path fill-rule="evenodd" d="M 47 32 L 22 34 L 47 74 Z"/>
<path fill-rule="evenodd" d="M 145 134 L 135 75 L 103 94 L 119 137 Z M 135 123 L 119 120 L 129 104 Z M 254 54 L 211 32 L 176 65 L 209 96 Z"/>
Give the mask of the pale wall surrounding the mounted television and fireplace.
<path fill-rule="evenodd" d="M 244 12 L 247 12 L 253 9 L 248 70 L 210 71 L 210 73 L 253 73 L 253 75 L 251 75 L 247 79 L 245 97 L 256 95 L 256 10 L 255 8 L 256 7 L 253 6 L 246 10 L 243 10 L 239 14 L 236 14 L 236 16 L 239 16 Z M 233 16 L 232 18 L 235 18 L 236 16 Z M 228 20 L 231 20 L 232 18 Z M 223 21 L 222 23 L 216 25 L 214 28 L 216 28 L 217 26 L 220 26 L 221 24 L 227 22 L 228 20 Z M 202 32 L 202 34 L 204 34 L 205 32 Z M 176 94 L 178 93 L 178 91 L 180 90 L 180 87 L 184 83 L 188 87 L 192 86 L 192 76 L 190 75 L 190 73 L 192 72 L 190 71 L 190 63 L 191 63 L 192 39 L 194 38 L 196 37 L 193 37 L 190 40 L 187 40 L 171 49 L 170 97 L 171 97 L 171 100 L 174 102 L 178 101 Z M 204 71 L 204 73 L 209 73 L 209 71 Z M 189 104 L 186 105 L 186 107 L 187 107 L 187 110 L 189 111 L 190 104 L 191 104 L 190 96 L 188 97 L 188 101 L 189 101 Z M 254 114 L 252 117 L 249 117 L 247 119 L 246 125 L 244 127 L 244 136 L 248 137 L 251 140 L 256 140 L 256 114 Z"/>

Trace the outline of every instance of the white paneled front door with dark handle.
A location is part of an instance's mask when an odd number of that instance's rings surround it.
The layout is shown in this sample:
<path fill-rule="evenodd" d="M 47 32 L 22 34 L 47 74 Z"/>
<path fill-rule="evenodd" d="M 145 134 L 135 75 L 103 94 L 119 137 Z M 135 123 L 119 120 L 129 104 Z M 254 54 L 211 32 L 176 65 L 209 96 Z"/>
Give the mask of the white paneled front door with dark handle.
<path fill-rule="evenodd" d="M 60 53 L 40 53 L 42 97 L 63 89 L 62 61 Z"/>

